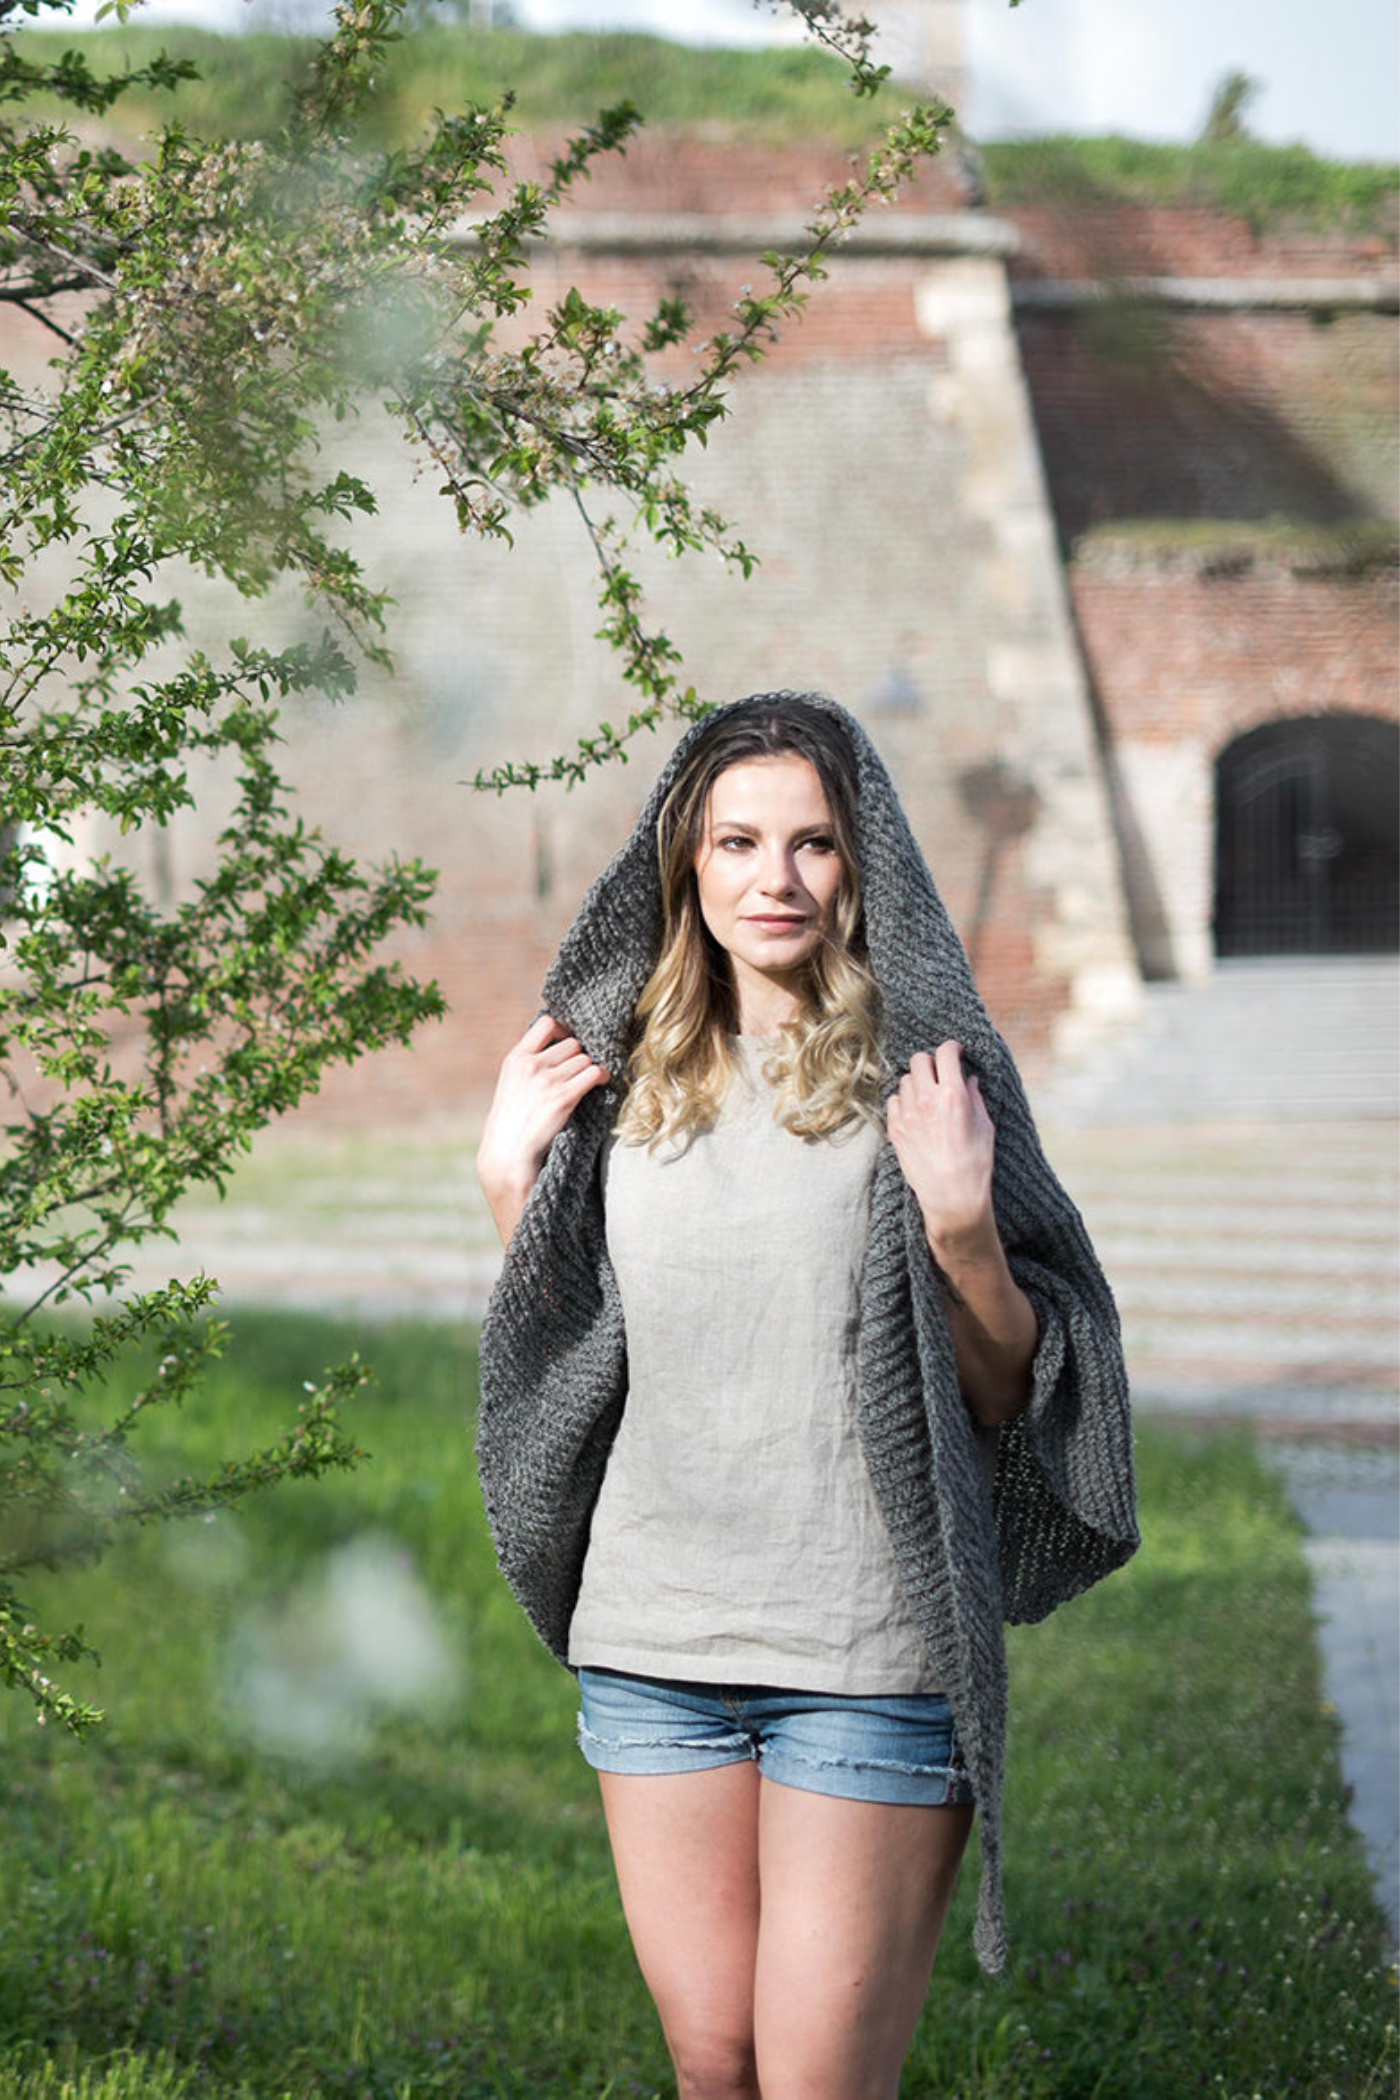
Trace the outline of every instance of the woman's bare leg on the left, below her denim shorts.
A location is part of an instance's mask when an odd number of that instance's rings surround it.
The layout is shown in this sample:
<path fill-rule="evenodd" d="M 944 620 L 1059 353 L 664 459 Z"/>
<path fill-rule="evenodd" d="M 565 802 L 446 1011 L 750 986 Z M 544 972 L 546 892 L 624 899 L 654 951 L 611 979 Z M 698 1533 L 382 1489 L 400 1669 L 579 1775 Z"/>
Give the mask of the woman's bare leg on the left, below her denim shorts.
<path fill-rule="evenodd" d="M 680 2100 L 758 2100 L 758 1766 L 598 1779 L 632 1947 Z"/>

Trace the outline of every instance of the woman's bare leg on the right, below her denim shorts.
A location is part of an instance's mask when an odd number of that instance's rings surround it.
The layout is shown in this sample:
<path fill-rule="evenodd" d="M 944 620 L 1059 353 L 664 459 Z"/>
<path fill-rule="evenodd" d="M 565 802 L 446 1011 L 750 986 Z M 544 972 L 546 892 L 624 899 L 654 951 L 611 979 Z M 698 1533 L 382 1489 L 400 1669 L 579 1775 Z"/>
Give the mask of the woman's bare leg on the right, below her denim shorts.
<path fill-rule="evenodd" d="M 972 1808 L 760 1785 L 762 2100 L 894 2100 Z"/>

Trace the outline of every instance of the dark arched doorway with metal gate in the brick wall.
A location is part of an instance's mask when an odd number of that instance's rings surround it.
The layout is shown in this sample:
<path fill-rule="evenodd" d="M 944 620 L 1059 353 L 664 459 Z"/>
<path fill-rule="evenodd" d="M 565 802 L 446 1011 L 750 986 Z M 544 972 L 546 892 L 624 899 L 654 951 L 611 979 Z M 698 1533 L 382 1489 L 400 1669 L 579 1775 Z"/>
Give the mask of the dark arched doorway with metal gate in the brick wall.
<path fill-rule="evenodd" d="M 1266 722 L 1215 760 L 1215 953 L 1400 947 L 1400 729 Z"/>

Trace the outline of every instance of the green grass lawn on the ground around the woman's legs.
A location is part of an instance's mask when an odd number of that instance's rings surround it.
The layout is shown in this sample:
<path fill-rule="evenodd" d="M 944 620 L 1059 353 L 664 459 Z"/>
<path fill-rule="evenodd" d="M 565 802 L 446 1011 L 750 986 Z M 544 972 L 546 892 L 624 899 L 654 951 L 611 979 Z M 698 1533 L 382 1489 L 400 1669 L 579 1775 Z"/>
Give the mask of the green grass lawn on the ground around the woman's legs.
<path fill-rule="evenodd" d="M 357 1340 L 243 1315 L 170 1460 Z M 52 1583 L 109 1722 L 0 1701 L 0 2100 L 670 2092 L 569 1678 L 491 1564 L 470 1340 L 367 1352 L 357 1474 Z M 976 1972 L 968 1875 L 905 2094 L 1379 2100 L 1394 1978 L 1297 1527 L 1245 1441 L 1148 1426 L 1140 1466 L 1142 1556 L 1014 1640 L 1012 1968 Z"/>

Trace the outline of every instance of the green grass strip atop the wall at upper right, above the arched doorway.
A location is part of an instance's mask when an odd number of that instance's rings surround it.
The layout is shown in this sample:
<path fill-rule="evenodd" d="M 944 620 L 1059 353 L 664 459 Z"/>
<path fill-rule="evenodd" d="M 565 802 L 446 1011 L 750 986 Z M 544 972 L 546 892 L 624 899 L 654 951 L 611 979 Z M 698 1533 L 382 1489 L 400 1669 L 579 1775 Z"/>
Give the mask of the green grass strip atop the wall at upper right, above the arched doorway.
<path fill-rule="evenodd" d="M 982 147 L 993 208 L 1205 206 L 1259 231 L 1278 225 L 1396 235 L 1400 168 L 1322 160 L 1306 145 L 1150 145 L 1144 139 L 1018 139 Z"/>

